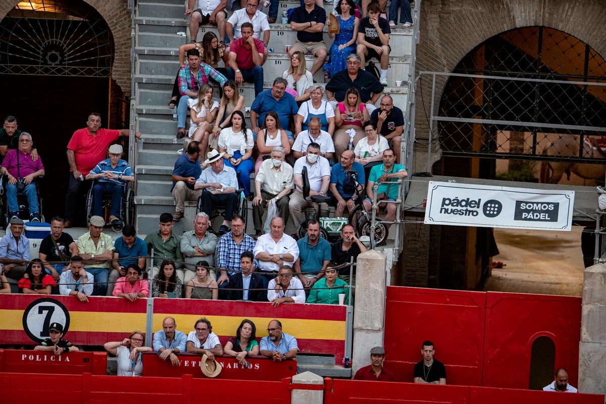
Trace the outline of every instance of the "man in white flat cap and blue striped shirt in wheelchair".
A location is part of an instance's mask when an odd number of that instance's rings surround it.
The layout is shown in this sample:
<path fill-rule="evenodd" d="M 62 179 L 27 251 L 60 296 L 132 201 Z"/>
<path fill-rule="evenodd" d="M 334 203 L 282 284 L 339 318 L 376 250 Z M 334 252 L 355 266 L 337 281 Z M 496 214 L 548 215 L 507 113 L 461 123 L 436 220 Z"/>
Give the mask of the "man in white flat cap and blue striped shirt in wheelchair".
<path fill-rule="evenodd" d="M 104 217 L 103 196 L 112 195 L 112 210 L 110 211 L 110 223 L 112 225 L 120 222 L 120 208 L 122 206 L 122 191 L 126 181 L 134 181 L 135 174 L 130 169 L 128 162 L 122 160 L 122 146 L 110 146 L 110 158 L 99 162 L 87 174 L 86 179 L 96 179 L 93 187 L 93 216 Z"/>

